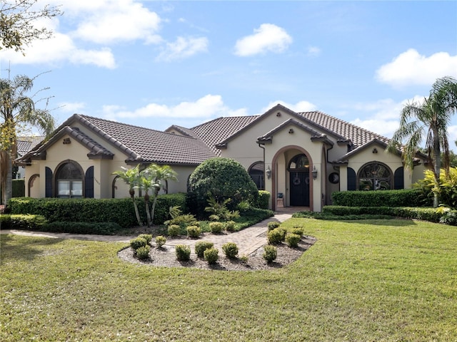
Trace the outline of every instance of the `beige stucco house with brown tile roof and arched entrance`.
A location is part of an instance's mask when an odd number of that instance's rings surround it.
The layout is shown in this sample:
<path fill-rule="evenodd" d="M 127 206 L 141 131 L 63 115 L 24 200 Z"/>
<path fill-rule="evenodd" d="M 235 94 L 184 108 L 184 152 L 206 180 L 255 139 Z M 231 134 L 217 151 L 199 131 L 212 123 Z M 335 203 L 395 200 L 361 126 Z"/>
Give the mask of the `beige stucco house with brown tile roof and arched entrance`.
<path fill-rule="evenodd" d="M 386 153 L 388 138 L 319 111 L 296 113 L 276 105 L 262 115 L 217 118 L 194 128 L 165 131 L 74 114 L 17 160 L 25 167 L 26 196 L 118 198 L 128 187 L 113 172 L 138 164 L 170 165 L 186 192 L 195 168 L 211 157 L 243 165 L 271 209 L 308 207 L 319 212 L 331 193 L 409 188 L 423 177 L 426 157 L 413 171 L 401 151 Z"/>

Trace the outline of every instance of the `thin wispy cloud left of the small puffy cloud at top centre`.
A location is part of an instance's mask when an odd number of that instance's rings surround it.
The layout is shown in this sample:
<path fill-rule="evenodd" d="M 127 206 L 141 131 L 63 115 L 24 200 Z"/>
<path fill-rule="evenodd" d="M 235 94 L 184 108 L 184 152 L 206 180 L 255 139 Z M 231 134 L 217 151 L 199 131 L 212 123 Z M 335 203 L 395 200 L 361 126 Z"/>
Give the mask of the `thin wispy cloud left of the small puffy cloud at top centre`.
<path fill-rule="evenodd" d="M 156 57 L 156 61 L 176 61 L 206 51 L 208 51 L 207 38 L 178 37 L 173 43 L 166 43 L 164 50 Z"/>

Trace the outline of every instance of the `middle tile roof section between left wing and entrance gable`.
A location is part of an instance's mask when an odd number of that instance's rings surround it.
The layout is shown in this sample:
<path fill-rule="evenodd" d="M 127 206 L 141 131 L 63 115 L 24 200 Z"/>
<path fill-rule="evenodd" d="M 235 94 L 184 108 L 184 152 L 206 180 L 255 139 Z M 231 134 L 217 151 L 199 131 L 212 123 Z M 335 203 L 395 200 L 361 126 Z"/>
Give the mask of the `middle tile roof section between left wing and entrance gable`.
<path fill-rule="evenodd" d="M 209 149 L 214 152 L 215 155 L 221 155 L 221 150 L 216 148 L 216 144 L 226 140 L 231 135 L 237 133 L 246 125 L 256 120 L 259 115 L 249 116 L 229 116 L 227 118 L 217 118 L 207 123 L 202 123 L 194 128 L 191 128 L 192 132 L 205 142 Z"/>

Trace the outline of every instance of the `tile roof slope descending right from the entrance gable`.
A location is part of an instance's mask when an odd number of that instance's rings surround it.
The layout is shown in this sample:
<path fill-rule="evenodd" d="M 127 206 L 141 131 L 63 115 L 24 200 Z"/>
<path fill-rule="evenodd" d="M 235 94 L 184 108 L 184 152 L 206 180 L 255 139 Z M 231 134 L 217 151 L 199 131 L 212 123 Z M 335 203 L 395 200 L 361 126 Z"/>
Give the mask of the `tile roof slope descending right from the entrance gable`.
<path fill-rule="evenodd" d="M 356 149 L 357 147 L 365 145 L 375 139 L 385 143 L 388 143 L 389 141 L 388 138 L 383 137 L 382 135 L 378 135 L 369 130 L 353 125 L 352 123 L 347 123 L 346 121 L 334 118 L 331 115 L 327 115 L 319 111 L 303 112 L 298 113 L 298 115 L 311 120 L 313 123 L 316 123 L 316 125 L 326 128 L 327 130 L 331 130 L 337 135 L 341 135 L 347 140 L 351 140 L 353 143 L 352 149 Z"/>

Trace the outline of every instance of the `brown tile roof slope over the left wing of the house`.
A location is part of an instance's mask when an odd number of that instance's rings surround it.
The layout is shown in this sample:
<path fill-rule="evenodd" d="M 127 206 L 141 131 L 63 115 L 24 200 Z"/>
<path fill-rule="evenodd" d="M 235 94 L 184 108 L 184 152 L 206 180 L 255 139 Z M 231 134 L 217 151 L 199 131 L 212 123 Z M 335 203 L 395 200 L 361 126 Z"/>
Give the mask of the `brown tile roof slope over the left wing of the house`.
<path fill-rule="evenodd" d="M 86 115 L 79 115 L 79 118 L 81 123 L 124 150 L 129 155 L 126 162 L 199 165 L 215 157 L 208 146 L 196 138 Z"/>

